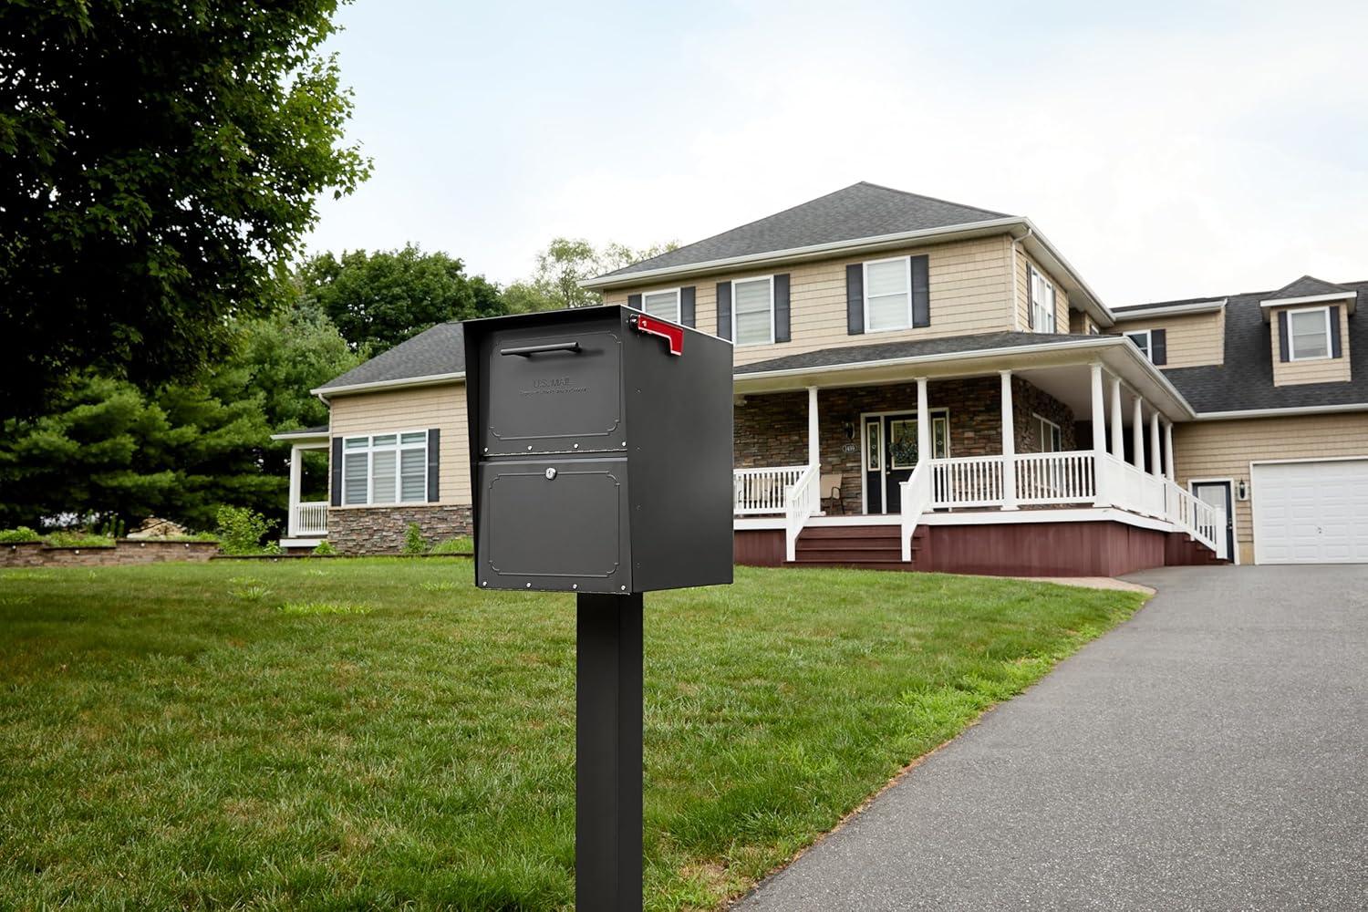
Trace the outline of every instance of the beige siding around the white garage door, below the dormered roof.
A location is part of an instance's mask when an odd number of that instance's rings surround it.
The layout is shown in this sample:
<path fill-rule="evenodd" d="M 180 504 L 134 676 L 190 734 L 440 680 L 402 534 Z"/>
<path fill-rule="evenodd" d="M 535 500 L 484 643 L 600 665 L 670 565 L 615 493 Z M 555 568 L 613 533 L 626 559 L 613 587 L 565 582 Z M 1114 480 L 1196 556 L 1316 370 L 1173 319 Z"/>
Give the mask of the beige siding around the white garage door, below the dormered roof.
<path fill-rule="evenodd" d="M 1368 413 L 1308 414 L 1286 418 L 1196 421 L 1174 427 L 1178 483 L 1192 479 L 1234 479 L 1249 483 L 1249 464 L 1260 459 L 1368 457 Z M 1235 502 L 1239 561 L 1253 563 L 1254 532 L 1249 500 Z"/>

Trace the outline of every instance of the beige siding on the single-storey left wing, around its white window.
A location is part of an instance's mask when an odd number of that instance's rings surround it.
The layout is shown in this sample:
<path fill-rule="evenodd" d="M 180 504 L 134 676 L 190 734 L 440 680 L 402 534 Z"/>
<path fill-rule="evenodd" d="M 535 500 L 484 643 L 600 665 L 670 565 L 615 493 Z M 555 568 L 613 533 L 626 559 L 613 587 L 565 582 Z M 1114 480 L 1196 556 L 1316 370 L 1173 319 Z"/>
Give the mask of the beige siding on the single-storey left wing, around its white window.
<path fill-rule="evenodd" d="M 332 436 L 389 433 L 440 428 L 442 453 L 438 503 L 471 502 L 469 450 L 465 428 L 465 384 L 447 383 L 415 390 L 363 392 L 332 399 Z"/>

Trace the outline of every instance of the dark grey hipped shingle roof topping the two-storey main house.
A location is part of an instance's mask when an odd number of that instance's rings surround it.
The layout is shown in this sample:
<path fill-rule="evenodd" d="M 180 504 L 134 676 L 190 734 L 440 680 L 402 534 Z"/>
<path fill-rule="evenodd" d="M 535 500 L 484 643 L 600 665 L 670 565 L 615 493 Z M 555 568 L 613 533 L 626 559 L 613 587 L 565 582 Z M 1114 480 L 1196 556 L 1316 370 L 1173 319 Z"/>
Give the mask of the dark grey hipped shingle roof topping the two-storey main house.
<path fill-rule="evenodd" d="M 607 276 L 1007 217 L 1011 216 L 862 180 L 758 222 L 633 263 Z"/>

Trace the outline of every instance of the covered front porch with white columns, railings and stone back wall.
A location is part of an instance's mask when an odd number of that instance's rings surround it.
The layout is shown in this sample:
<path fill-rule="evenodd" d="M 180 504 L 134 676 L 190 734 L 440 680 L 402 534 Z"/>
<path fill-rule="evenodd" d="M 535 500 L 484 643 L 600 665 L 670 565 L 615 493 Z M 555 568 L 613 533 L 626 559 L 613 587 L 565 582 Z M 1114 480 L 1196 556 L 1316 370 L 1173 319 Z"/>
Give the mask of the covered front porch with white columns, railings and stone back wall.
<path fill-rule="evenodd" d="M 804 529 L 896 525 L 906 562 L 918 526 L 1105 517 L 1226 556 L 1224 517 L 1175 484 L 1186 403 L 1116 342 L 811 372 L 802 390 L 739 375 L 736 528 L 782 529 L 795 561 Z"/>

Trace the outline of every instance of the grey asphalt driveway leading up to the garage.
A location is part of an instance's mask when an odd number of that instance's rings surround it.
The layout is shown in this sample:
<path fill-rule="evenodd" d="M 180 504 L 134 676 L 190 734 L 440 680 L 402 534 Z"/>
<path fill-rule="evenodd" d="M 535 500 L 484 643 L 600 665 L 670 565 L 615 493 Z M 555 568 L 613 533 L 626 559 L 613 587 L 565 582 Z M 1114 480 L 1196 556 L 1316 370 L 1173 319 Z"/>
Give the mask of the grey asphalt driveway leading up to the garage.
<path fill-rule="evenodd" d="M 743 912 L 1368 909 L 1368 566 L 1166 567 Z"/>

